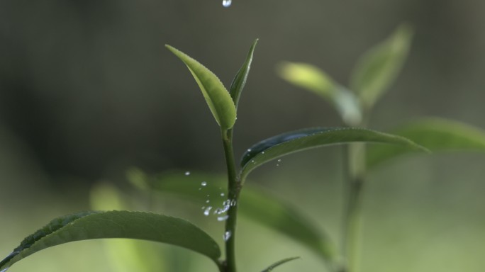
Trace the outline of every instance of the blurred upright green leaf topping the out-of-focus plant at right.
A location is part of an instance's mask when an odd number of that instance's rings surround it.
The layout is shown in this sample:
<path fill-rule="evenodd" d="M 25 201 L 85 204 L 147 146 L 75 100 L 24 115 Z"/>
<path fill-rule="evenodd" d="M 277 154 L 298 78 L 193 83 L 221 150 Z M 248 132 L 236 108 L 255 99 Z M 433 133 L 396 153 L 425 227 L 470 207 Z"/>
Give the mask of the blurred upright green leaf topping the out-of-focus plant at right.
<path fill-rule="evenodd" d="M 357 62 L 350 89 L 357 91 L 362 106 L 372 108 L 396 79 L 411 46 L 412 30 L 403 24 L 394 34 L 366 52 Z"/>

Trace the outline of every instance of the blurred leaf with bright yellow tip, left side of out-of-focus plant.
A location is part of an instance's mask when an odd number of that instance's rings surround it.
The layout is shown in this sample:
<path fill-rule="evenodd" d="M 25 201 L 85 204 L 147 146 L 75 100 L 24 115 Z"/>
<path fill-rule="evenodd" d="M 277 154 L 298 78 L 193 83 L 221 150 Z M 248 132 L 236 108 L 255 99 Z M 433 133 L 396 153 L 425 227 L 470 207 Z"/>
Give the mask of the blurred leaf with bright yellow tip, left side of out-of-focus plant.
<path fill-rule="evenodd" d="M 332 103 L 345 123 L 358 124 L 362 120 L 355 94 L 335 83 L 318 67 L 306 63 L 282 62 L 277 67 L 277 72 L 282 79 Z"/>

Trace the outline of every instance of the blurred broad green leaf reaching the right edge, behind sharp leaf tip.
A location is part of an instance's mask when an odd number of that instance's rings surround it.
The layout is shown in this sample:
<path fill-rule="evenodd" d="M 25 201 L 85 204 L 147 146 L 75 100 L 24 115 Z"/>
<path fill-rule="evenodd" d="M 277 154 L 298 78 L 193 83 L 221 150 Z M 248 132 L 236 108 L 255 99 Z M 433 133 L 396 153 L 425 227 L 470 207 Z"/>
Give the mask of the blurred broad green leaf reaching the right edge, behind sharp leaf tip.
<path fill-rule="evenodd" d="M 431 152 L 485 152 L 485 131 L 453 120 L 423 118 L 396 128 L 393 133 L 411 139 Z M 367 166 L 370 169 L 412 151 L 398 146 L 369 147 Z"/>

